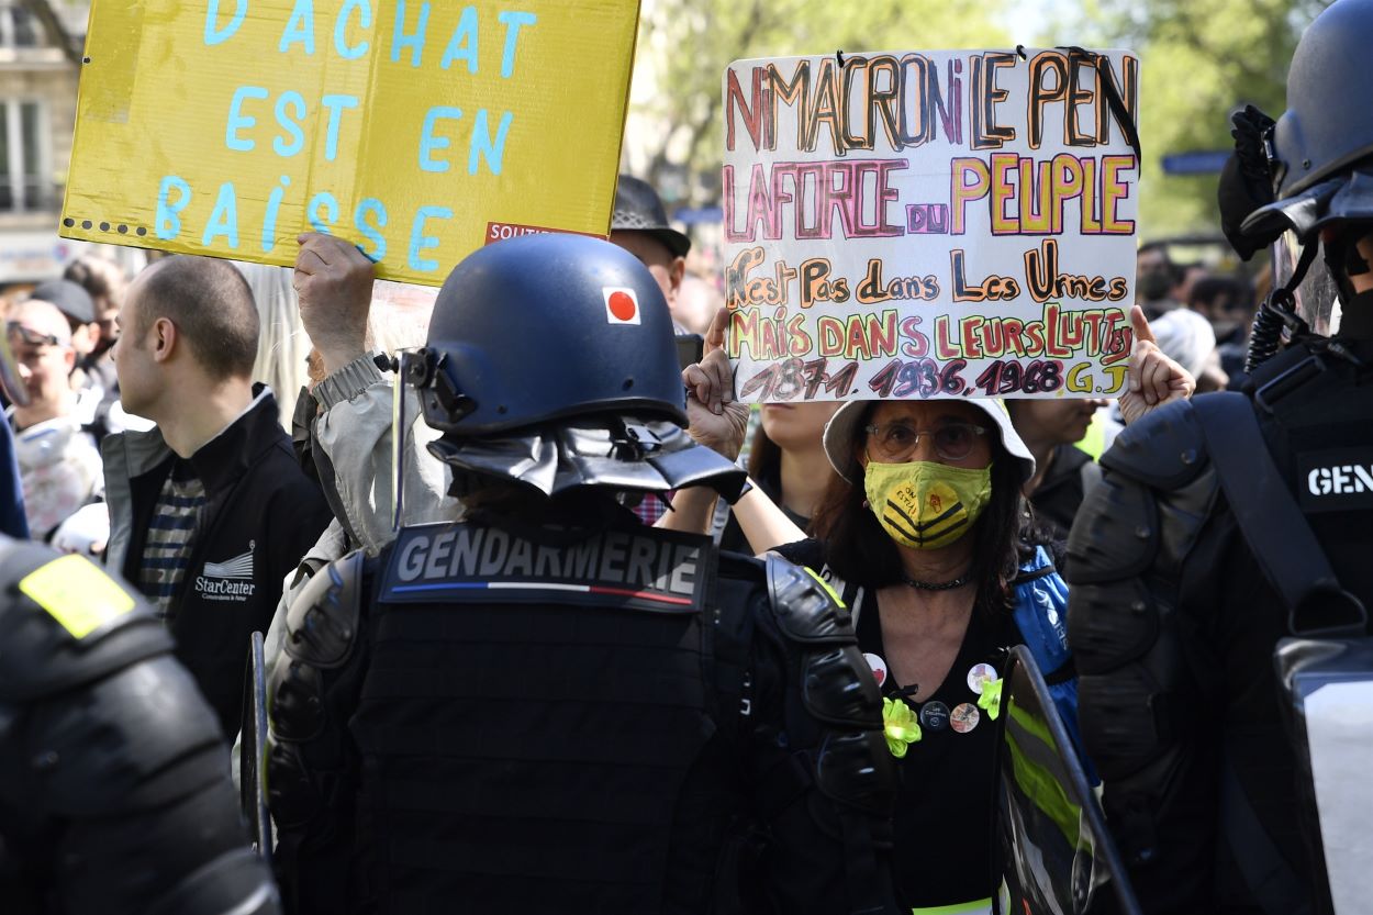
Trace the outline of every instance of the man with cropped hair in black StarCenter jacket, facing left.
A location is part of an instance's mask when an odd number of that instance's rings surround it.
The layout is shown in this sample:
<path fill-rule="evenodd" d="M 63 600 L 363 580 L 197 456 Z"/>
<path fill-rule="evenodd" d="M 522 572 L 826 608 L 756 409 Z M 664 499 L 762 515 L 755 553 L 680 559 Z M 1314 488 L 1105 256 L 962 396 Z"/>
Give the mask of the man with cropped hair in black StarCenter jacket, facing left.
<path fill-rule="evenodd" d="M 170 257 L 119 309 L 124 408 L 147 433 L 103 442 L 106 563 L 154 603 L 227 736 L 239 730 L 249 636 L 266 631 L 281 581 L 330 519 L 254 386 L 258 317 L 228 262 Z"/>

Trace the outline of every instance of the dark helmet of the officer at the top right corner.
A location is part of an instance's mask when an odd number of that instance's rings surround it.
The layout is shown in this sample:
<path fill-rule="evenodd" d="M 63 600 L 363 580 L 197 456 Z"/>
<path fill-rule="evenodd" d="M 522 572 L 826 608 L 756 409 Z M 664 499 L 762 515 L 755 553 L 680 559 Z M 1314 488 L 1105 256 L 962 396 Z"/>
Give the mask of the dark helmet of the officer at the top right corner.
<path fill-rule="evenodd" d="M 1269 242 L 1303 242 L 1332 223 L 1373 220 L 1373 0 L 1339 0 L 1307 27 L 1288 70 L 1288 109 L 1273 128 L 1277 202 L 1244 220 Z"/>

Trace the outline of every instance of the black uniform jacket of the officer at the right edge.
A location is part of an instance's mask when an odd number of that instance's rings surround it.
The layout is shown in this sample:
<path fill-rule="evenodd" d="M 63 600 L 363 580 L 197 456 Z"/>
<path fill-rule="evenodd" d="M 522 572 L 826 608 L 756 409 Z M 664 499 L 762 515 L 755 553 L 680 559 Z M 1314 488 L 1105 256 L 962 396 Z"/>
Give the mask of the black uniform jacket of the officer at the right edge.
<path fill-rule="evenodd" d="M 1293 499 L 1340 587 L 1365 606 L 1373 499 L 1352 475 L 1341 493 L 1318 474 L 1373 463 L 1370 313 L 1373 295 L 1361 295 L 1341 324 L 1361 365 L 1307 363 L 1311 349 L 1297 343 L 1245 390 L 1276 468 L 1255 475 L 1249 497 Z M 1068 637 L 1083 741 L 1142 911 L 1311 911 L 1324 864 L 1274 666 L 1289 621 L 1192 411 L 1173 404 L 1126 429 L 1072 529 Z"/>

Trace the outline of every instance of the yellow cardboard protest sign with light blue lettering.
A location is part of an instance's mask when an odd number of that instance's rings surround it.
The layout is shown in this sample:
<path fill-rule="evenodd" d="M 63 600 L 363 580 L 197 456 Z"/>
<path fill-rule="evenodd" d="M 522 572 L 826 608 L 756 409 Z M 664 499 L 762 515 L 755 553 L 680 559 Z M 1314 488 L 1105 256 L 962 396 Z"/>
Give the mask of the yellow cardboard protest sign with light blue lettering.
<path fill-rule="evenodd" d="M 288 265 L 299 232 L 439 284 L 605 235 L 638 0 L 96 0 L 62 235 Z"/>

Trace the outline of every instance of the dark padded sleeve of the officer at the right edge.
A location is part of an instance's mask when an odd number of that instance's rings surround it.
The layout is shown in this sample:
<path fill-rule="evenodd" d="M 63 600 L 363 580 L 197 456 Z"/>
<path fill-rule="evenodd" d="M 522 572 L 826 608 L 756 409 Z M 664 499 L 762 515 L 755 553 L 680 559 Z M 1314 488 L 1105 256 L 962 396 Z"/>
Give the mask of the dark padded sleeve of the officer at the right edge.
<path fill-rule="evenodd" d="M 1201 448 L 1186 404 L 1123 431 L 1068 539 L 1082 741 L 1134 890 L 1168 915 L 1212 911 L 1216 883 L 1222 668 L 1214 603 L 1182 595 L 1185 565 L 1221 569 L 1192 556 L 1218 490 Z"/>

